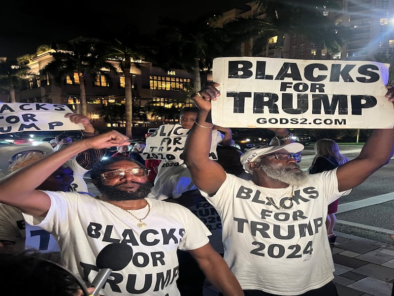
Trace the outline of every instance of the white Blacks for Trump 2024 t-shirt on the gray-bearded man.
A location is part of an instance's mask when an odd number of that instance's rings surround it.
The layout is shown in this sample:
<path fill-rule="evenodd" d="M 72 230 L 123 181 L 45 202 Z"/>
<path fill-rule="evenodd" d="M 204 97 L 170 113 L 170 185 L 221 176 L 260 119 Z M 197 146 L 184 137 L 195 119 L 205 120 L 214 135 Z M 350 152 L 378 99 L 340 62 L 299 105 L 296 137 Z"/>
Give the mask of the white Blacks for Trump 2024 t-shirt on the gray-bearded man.
<path fill-rule="evenodd" d="M 224 258 L 242 289 L 299 295 L 333 279 L 327 206 L 350 192 L 337 188 L 334 169 L 310 175 L 294 189 L 261 187 L 227 174 L 214 196 L 201 191 L 222 219 Z"/>

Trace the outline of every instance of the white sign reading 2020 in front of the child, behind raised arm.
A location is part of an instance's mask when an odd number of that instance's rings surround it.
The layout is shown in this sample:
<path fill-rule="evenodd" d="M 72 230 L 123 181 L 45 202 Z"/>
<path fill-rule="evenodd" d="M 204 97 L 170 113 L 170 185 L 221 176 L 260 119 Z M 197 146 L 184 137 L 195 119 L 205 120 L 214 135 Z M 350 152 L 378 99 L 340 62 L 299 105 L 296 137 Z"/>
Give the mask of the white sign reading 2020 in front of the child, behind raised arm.
<path fill-rule="evenodd" d="M 183 148 L 190 130 L 180 124 L 163 124 L 146 139 L 146 146 L 141 153 L 144 159 L 183 160 Z M 217 131 L 213 131 L 216 132 Z M 216 154 L 216 136 L 212 137 L 210 159 L 218 159 Z"/>

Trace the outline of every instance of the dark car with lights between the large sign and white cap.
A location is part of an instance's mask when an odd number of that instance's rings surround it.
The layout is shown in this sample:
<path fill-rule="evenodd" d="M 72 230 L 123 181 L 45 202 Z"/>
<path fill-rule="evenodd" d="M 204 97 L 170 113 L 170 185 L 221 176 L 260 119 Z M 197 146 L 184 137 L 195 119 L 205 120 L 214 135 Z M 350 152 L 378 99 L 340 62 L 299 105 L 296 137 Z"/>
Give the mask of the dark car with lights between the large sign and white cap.
<path fill-rule="evenodd" d="M 274 133 L 261 128 L 231 128 L 234 147 L 245 151 L 247 149 L 267 145 L 271 141 Z"/>

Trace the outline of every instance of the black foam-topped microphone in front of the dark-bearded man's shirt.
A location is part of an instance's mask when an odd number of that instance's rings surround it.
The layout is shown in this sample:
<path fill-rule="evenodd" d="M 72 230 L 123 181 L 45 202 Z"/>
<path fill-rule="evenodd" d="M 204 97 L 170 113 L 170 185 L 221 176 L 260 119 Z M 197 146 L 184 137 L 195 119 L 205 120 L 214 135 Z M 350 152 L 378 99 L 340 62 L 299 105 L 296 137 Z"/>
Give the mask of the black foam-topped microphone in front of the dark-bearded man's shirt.
<path fill-rule="evenodd" d="M 90 287 L 95 287 L 92 296 L 99 295 L 99 291 L 105 284 L 112 270 L 121 270 L 130 263 L 132 248 L 127 244 L 114 243 L 102 248 L 96 258 L 96 266 L 100 268 L 99 273 Z"/>

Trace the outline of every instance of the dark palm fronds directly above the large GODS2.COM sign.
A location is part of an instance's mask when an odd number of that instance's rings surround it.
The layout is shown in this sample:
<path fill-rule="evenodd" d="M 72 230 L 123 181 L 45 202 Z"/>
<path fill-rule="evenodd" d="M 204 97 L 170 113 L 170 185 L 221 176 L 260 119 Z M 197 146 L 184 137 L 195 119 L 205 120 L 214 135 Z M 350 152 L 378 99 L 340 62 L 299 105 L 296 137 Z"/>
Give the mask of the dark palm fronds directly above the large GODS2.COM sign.
<path fill-rule="evenodd" d="M 257 17 L 236 18 L 224 28 L 233 32 L 235 39 L 253 37 L 253 52 L 267 44 L 269 37 L 301 34 L 327 49 L 329 55 L 340 51 L 346 29 L 328 17 L 340 11 L 340 0 L 253 0 L 262 14 Z"/>

